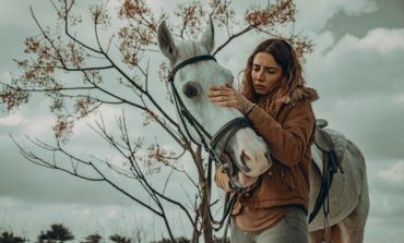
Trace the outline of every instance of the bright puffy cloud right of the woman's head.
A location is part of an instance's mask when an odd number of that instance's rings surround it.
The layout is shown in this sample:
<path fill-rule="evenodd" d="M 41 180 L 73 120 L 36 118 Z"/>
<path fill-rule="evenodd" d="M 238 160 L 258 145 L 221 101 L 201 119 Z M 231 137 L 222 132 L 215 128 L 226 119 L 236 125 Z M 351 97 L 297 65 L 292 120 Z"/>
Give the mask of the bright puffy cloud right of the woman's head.
<path fill-rule="evenodd" d="M 373 29 L 359 39 L 347 35 L 310 61 L 314 84 L 330 99 L 403 95 L 404 29 Z M 337 97 L 335 97 L 337 96 Z M 328 96 L 329 97 L 329 96 Z"/>

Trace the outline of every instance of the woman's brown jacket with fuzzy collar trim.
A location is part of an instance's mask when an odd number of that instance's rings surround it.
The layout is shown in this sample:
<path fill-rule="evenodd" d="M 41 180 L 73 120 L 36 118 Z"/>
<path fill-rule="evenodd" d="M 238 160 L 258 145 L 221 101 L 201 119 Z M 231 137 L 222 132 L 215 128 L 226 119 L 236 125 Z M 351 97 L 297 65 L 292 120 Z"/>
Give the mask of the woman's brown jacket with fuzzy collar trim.
<path fill-rule="evenodd" d="M 248 114 L 254 131 L 268 143 L 274 162 L 262 174 L 261 183 L 239 198 L 234 215 L 242 206 L 265 208 L 301 205 L 308 211 L 310 145 L 316 122 L 311 101 L 317 98 L 313 89 L 304 87 L 285 99 L 287 101 L 276 118 L 260 107 L 253 108 Z M 218 170 L 215 181 L 226 190 L 227 177 Z"/>

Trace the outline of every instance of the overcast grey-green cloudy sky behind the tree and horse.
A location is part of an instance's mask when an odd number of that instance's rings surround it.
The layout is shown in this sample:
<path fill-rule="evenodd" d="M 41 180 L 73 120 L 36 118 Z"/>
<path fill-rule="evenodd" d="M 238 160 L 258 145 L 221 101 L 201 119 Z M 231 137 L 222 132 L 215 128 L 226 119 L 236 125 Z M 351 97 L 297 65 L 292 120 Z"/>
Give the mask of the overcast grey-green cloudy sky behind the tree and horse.
<path fill-rule="evenodd" d="M 174 9 L 171 3 L 148 2 L 156 12 L 164 9 L 170 13 Z M 300 0 L 296 4 L 295 29 L 310 36 L 316 44 L 305 63 L 308 85 L 321 97 L 314 104 L 316 114 L 328 119 L 332 129 L 356 143 L 367 160 L 371 208 L 365 242 L 403 242 L 404 1 Z M 38 33 L 29 16 L 29 5 L 44 25 L 54 23 L 49 1 L 1 0 L 2 82 L 20 72 L 12 59 L 23 57 L 24 38 Z M 242 1 L 235 1 L 235 7 L 240 13 L 246 8 Z M 219 53 L 218 61 L 237 74 L 261 38 L 242 37 Z M 238 51 L 240 46 L 246 47 L 245 51 Z M 62 222 L 78 238 L 94 232 L 107 236 L 111 232 L 130 235 L 136 226 L 143 224 L 143 231 L 153 235 L 150 239 L 158 239 L 162 235 L 158 228 L 153 232 L 147 230 L 158 220 L 110 186 L 24 160 L 9 134 L 28 147 L 25 136 L 51 142 L 54 118 L 48 105 L 35 97 L 32 104 L 15 112 L 0 113 L 0 231 L 12 229 L 34 240 L 40 230 Z M 104 114 L 119 113 L 112 108 L 103 111 Z M 114 116 L 107 117 L 106 122 L 112 124 Z M 131 127 L 133 133 L 146 138 L 162 138 L 159 134 L 150 133 L 152 130 Z M 78 124 L 74 134 L 70 145 L 74 151 L 107 154 L 86 122 Z M 130 182 L 117 180 L 138 193 Z M 187 187 L 186 183 L 182 186 Z M 175 230 L 180 234 L 185 228 L 178 226 Z"/>

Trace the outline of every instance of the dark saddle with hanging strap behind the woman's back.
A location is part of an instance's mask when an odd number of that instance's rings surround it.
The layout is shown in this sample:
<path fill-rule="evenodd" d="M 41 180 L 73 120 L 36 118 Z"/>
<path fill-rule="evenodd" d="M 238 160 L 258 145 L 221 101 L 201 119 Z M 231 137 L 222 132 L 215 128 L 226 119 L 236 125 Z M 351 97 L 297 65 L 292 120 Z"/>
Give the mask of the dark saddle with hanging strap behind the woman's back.
<path fill-rule="evenodd" d="M 316 120 L 314 145 L 321 150 L 322 159 L 313 160 L 313 163 L 317 165 L 322 177 L 320 192 L 317 196 L 314 208 L 310 212 L 309 222 L 316 218 L 321 206 L 324 205 L 334 173 L 336 173 L 337 170 L 340 170 L 341 173 L 344 173 L 341 167 L 341 159 L 335 151 L 335 144 L 330 134 L 324 130 L 328 124 L 329 123 L 324 119 Z"/>

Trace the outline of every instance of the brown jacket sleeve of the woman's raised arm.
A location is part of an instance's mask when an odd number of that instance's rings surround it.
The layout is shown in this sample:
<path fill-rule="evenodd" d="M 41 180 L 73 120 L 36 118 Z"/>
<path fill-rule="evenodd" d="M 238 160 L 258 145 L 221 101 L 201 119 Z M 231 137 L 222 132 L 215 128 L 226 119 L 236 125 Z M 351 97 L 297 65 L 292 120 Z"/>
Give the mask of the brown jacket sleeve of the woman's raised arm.
<path fill-rule="evenodd" d="M 254 107 L 248 118 L 268 143 L 271 156 L 285 166 L 294 166 L 302 160 L 310 145 L 316 119 L 308 100 L 285 109 L 287 113 L 282 124 L 260 107 Z"/>

